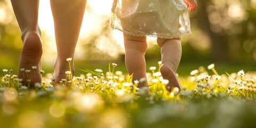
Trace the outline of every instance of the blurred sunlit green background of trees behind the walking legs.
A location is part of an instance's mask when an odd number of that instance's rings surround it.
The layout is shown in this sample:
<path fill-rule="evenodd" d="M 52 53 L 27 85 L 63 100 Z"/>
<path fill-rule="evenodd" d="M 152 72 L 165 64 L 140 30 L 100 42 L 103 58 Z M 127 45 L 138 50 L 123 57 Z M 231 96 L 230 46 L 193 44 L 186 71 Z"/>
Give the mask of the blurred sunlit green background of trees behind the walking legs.
<path fill-rule="evenodd" d="M 109 26 L 111 3 L 110 0 L 87 1 L 74 58 L 76 75 L 83 73 L 78 68 L 107 71 L 108 63 L 117 63 L 116 70 L 127 73 L 122 33 Z M 190 13 L 193 34 L 182 38 L 178 74 L 188 76 L 191 70 L 199 66 L 207 68 L 211 63 L 219 74 L 241 69 L 255 71 L 256 0 L 197 0 L 197 4 L 197 10 Z M 49 1 L 40 1 L 38 22 L 44 46 L 42 68 L 52 73 L 57 53 Z M 157 67 L 160 49 L 154 38 L 148 38 L 148 43 L 147 68 Z M 0 69 L 14 69 L 17 73 L 21 49 L 20 29 L 11 2 L 0 0 Z"/>

